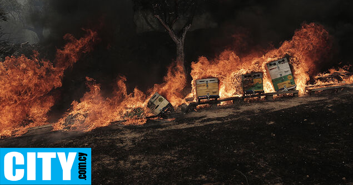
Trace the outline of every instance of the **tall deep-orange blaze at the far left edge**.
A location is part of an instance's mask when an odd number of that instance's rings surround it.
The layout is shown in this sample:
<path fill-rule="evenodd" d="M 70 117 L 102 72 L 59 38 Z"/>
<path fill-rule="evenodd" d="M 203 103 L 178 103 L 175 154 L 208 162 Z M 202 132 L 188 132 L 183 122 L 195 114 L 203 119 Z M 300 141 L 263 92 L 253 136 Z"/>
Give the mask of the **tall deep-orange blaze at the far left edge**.
<path fill-rule="evenodd" d="M 26 128 L 47 124 L 46 114 L 54 105 L 48 93 L 61 87 L 65 69 L 91 50 L 95 37 L 91 30 L 78 40 L 66 34 L 68 44 L 56 51 L 54 64 L 38 59 L 36 51 L 32 58 L 12 56 L 0 63 L 0 137 L 21 135 Z"/>

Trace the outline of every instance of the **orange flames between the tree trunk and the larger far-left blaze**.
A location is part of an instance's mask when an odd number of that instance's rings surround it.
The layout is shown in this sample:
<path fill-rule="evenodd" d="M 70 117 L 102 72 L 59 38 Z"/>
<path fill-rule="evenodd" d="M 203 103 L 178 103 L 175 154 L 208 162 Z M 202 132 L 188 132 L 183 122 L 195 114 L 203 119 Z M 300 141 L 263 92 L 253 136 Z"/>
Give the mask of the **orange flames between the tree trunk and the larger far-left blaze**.
<path fill-rule="evenodd" d="M 127 93 L 126 78 L 120 76 L 116 83 L 112 98 L 103 98 L 100 85 L 87 77 L 90 91 L 85 93 L 80 102 L 72 102 L 70 111 L 54 124 L 54 129 L 77 129 L 90 131 L 96 127 L 109 125 L 121 120 L 121 124 L 141 125 L 150 116 L 146 105 L 155 92 L 166 97 L 174 106 L 185 102 L 181 90 L 186 85 L 186 77 L 181 63 L 174 62 L 168 68 L 164 82 L 155 84 L 147 93 L 134 88 Z"/>

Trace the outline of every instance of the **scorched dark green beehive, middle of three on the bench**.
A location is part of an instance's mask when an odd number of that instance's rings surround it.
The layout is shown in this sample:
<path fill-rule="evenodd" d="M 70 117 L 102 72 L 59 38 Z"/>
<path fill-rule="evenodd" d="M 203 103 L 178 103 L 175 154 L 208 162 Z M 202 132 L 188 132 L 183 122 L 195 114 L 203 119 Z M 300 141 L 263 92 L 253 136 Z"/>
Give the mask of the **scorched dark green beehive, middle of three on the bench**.
<path fill-rule="evenodd" d="M 242 86 L 244 94 L 263 93 L 262 73 L 249 73 L 242 75 Z"/>

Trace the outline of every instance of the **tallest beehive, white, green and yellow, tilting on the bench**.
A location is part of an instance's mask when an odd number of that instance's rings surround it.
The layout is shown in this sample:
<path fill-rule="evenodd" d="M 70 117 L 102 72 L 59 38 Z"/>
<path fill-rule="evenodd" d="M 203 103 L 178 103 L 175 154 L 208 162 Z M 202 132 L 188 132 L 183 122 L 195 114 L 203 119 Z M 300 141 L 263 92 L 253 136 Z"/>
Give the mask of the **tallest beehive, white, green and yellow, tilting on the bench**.
<path fill-rule="evenodd" d="M 288 91 L 294 89 L 295 85 L 291 68 L 289 67 L 288 59 L 282 58 L 267 64 L 267 69 L 270 73 L 272 84 L 275 91 Z"/>

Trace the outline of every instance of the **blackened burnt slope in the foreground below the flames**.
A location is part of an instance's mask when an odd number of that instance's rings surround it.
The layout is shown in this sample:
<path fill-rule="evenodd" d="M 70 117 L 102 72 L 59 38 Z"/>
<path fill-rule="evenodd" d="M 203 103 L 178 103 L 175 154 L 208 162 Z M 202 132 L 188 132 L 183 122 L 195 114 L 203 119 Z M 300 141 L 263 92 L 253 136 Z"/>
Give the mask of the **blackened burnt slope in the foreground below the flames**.
<path fill-rule="evenodd" d="M 143 126 L 47 132 L 0 147 L 92 148 L 92 184 L 353 184 L 353 91 L 219 108 Z"/>

